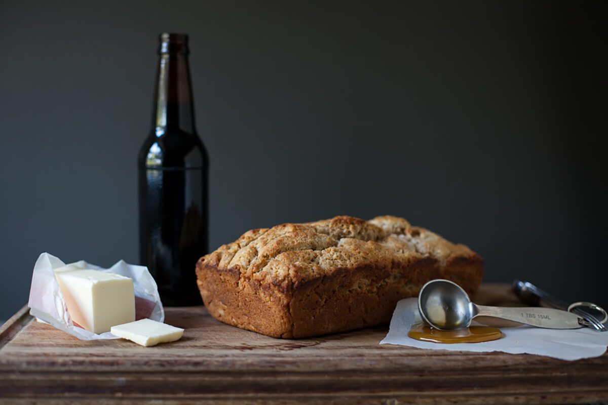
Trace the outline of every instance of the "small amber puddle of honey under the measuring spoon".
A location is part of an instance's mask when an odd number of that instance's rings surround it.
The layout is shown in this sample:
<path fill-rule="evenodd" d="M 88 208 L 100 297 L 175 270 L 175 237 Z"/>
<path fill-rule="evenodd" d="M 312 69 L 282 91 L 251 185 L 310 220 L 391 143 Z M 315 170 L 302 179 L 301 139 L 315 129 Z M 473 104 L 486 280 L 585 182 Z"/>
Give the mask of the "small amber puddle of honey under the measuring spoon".
<path fill-rule="evenodd" d="M 407 333 L 412 339 L 435 343 L 478 343 L 500 339 L 500 329 L 491 326 L 469 326 L 460 330 L 438 330 L 427 324 L 413 324 Z"/>

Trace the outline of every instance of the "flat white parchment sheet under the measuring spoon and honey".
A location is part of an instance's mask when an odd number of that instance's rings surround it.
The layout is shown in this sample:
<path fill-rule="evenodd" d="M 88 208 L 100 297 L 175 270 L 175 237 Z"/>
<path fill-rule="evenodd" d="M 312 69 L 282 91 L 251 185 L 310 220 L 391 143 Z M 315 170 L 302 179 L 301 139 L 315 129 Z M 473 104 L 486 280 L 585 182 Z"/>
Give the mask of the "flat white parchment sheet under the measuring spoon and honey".
<path fill-rule="evenodd" d="M 455 350 L 468 352 L 528 353 L 562 360 L 578 360 L 601 356 L 606 352 L 608 332 L 591 328 L 544 329 L 527 325 L 500 328 L 502 338 L 482 343 L 442 344 L 409 338 L 412 324 L 422 322 L 416 298 L 397 303 L 390 321 L 389 333 L 380 344 L 400 344 L 420 349 Z"/>

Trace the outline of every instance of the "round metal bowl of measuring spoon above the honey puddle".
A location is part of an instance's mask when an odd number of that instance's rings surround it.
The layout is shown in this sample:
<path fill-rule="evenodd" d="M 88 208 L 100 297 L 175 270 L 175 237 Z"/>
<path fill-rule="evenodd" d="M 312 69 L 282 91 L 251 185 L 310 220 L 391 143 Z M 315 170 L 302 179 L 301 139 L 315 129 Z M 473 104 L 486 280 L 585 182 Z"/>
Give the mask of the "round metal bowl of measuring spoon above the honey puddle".
<path fill-rule="evenodd" d="M 418 294 L 418 310 L 427 324 L 439 330 L 458 330 L 471 325 L 477 311 L 458 284 L 432 280 Z"/>

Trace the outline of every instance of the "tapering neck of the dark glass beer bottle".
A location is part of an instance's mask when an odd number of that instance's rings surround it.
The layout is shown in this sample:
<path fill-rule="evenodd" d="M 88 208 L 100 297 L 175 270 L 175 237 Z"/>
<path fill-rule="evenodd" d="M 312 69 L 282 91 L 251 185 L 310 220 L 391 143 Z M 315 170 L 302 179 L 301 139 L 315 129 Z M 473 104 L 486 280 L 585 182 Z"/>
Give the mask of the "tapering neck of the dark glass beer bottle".
<path fill-rule="evenodd" d="M 161 37 L 159 55 L 153 116 L 156 135 L 160 137 L 167 130 L 195 134 L 187 44 L 170 43 Z"/>

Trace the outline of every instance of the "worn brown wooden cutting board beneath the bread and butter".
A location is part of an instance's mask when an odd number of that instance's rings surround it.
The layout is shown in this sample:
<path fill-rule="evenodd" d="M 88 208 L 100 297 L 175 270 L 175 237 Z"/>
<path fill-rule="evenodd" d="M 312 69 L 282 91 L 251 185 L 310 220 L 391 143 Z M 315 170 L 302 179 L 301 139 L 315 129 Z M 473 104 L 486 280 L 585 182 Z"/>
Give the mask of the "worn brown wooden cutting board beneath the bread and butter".
<path fill-rule="evenodd" d="M 486 284 L 480 304 L 516 303 Z M 579 361 L 379 345 L 388 327 L 282 340 L 167 308 L 174 343 L 80 341 L 23 308 L 0 328 L 0 403 L 596 403 L 608 355 Z"/>

